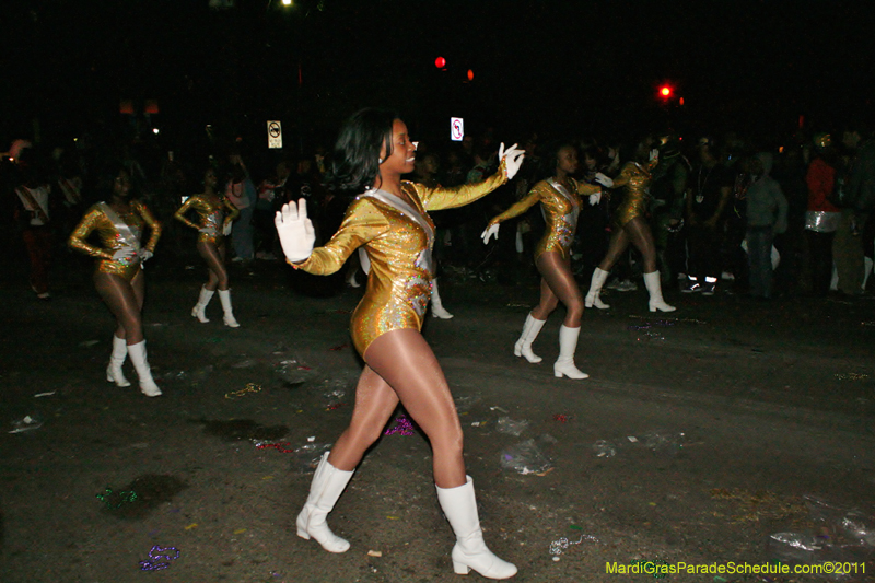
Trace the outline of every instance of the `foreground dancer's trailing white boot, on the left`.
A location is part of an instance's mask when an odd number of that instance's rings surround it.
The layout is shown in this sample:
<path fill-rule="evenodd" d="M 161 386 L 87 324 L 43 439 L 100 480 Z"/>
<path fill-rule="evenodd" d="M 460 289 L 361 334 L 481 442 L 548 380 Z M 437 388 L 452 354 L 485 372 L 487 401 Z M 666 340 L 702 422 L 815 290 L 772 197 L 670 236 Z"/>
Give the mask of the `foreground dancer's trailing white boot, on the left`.
<path fill-rule="evenodd" d="M 328 528 L 326 518 L 355 470 L 337 469 L 328 462 L 329 453 L 325 452 L 316 467 L 313 482 L 310 485 L 310 495 L 307 495 L 304 509 L 298 515 L 295 525 L 298 526 L 298 536 L 301 538 L 306 540 L 310 540 L 311 537 L 315 538 L 328 552 L 346 552 L 349 549 L 349 543 Z"/>

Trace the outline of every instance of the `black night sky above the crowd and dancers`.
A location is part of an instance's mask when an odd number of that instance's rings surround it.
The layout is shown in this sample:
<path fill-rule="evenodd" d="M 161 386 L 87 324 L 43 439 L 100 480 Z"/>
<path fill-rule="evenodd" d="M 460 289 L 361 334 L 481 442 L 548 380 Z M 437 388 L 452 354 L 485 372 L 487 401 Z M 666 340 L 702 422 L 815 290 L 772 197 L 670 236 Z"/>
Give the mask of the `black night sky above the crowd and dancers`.
<path fill-rule="evenodd" d="M 667 116 L 681 130 L 788 132 L 803 114 L 814 125 L 868 115 L 868 5 L 237 0 L 217 12 L 207 0 L 7 0 L 0 139 L 35 116 L 47 139 L 75 133 L 117 118 L 120 98 L 158 98 L 180 135 L 205 123 L 260 132 L 280 118 L 330 141 L 363 105 L 396 107 L 421 133 L 444 132 L 451 115 L 512 133 L 611 135 Z M 663 81 L 682 108 L 660 107 Z"/>

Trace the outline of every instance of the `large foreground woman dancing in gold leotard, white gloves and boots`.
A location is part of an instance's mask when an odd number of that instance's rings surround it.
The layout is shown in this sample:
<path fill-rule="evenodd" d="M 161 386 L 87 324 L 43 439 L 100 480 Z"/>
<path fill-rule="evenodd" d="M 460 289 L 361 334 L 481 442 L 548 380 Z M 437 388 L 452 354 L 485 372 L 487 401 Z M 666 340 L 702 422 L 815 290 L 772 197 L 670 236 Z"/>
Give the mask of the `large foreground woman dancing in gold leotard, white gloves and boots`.
<path fill-rule="evenodd" d="M 474 485 L 465 474 L 458 413 L 441 365 L 420 334 L 433 277 L 434 224 L 428 211 L 460 207 L 508 182 L 520 168 L 522 152 L 503 152 L 502 145 L 499 153 L 498 173 L 481 183 L 441 188 L 402 182 L 416 159 L 407 126 L 392 112 L 363 109 L 343 126 L 335 149 L 338 184 L 362 193 L 340 230 L 313 249 L 304 200 L 277 213 L 280 242 L 294 267 L 332 273 L 357 248 L 370 263 L 368 288 L 351 323 L 353 343 L 365 362 L 352 420 L 323 457 L 296 521 L 299 536 L 315 538 L 330 552 L 346 551 L 349 543 L 330 532 L 326 516 L 400 401 L 431 442 L 438 499 L 456 534 L 455 571 L 474 569 L 492 579 L 516 573 L 483 543 Z"/>

